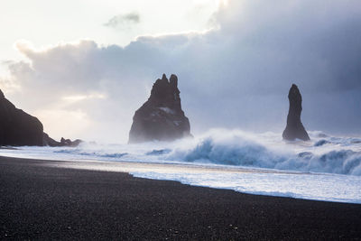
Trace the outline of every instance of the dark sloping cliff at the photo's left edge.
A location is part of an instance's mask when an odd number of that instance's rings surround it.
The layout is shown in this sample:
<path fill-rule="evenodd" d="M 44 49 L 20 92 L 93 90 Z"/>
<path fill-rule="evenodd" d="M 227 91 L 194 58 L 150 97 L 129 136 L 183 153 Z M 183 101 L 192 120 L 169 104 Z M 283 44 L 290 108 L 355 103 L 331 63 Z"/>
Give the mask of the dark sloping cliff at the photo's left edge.
<path fill-rule="evenodd" d="M 42 123 L 16 108 L 1 90 L 0 145 L 42 145 Z"/>

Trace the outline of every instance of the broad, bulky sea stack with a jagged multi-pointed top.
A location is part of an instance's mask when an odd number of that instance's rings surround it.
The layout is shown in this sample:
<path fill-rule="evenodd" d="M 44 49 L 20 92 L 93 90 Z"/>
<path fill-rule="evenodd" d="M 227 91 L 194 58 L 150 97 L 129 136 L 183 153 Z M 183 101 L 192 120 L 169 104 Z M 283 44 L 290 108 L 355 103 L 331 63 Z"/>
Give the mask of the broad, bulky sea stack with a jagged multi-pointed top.
<path fill-rule="evenodd" d="M 172 141 L 191 136 L 190 121 L 180 107 L 178 78 L 165 74 L 153 84 L 151 97 L 135 111 L 129 143 Z"/>

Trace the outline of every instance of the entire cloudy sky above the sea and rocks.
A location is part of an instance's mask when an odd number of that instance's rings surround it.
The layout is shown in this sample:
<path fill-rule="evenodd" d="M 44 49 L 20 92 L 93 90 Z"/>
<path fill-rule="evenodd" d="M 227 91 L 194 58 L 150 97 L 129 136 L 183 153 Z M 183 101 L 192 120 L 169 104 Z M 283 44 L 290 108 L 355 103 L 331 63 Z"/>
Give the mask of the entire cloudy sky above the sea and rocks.
<path fill-rule="evenodd" d="M 125 143 L 162 73 L 193 134 L 281 133 L 292 83 L 306 129 L 361 134 L 358 0 L 5 0 L 0 31 L 0 88 L 56 139 Z"/>

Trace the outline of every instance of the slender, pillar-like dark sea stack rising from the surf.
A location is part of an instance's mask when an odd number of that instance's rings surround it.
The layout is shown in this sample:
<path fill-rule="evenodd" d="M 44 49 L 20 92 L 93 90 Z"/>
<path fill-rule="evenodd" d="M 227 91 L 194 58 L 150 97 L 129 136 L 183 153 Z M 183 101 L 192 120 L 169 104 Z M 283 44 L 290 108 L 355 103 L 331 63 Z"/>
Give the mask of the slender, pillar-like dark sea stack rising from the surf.
<path fill-rule="evenodd" d="M 292 84 L 290 88 L 288 99 L 290 101 L 290 109 L 287 116 L 287 126 L 282 134 L 283 139 L 289 141 L 295 139 L 309 141 L 310 136 L 301 123 L 302 97 L 299 88 L 295 84 Z"/>

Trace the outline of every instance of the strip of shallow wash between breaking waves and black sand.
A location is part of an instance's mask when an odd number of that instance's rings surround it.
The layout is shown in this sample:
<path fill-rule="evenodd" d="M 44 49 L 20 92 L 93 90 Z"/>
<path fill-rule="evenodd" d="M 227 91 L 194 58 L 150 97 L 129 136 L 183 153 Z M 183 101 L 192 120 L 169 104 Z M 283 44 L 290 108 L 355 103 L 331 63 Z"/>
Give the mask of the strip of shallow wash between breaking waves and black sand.
<path fill-rule="evenodd" d="M 326 202 L 337 202 L 337 203 L 351 203 L 351 204 L 361 204 L 361 200 L 359 199 L 358 189 L 355 185 L 351 187 L 343 186 L 345 190 L 347 190 L 347 194 L 342 194 L 340 196 L 332 196 L 328 195 L 327 188 L 333 187 L 328 183 L 336 184 L 338 179 L 341 178 L 341 183 L 343 182 L 342 175 L 332 174 L 332 173 L 322 173 L 322 172 L 301 172 L 301 171 L 283 171 L 283 170 L 273 170 L 273 169 L 264 169 L 264 168 L 246 168 L 240 166 L 227 166 L 227 165 L 208 165 L 204 163 L 197 162 L 141 162 L 141 161 L 104 161 L 104 160 L 95 160 L 95 159 L 79 159 L 79 160 L 71 160 L 71 159 L 45 159 L 44 157 L 34 158 L 32 157 L 19 157 L 19 156 L 4 156 L 0 155 L 0 157 L 8 157 L 14 159 L 23 159 L 23 160 L 38 160 L 42 162 L 42 165 L 47 167 L 54 168 L 63 168 L 63 169 L 75 169 L 75 170 L 87 170 L 87 171 L 110 171 L 110 172 L 124 172 L 132 175 L 135 178 L 143 178 L 148 180 L 158 180 L 158 181 L 177 181 L 180 184 L 190 185 L 194 187 L 204 187 L 210 189 L 218 189 L 218 190 L 234 190 L 239 193 L 246 193 L 251 195 L 260 195 L 266 197 L 283 197 L 290 199 L 305 199 L 305 200 L 315 200 L 315 201 L 326 201 Z M 219 177 L 225 175 L 227 177 L 227 181 L 229 181 L 229 177 L 234 177 L 238 182 L 234 182 L 230 184 L 217 184 L 217 183 L 227 183 L 222 182 L 222 179 L 216 178 L 216 182 L 208 181 L 206 178 L 206 182 L 203 181 L 203 176 L 207 177 L 211 175 L 212 177 Z M 274 177 L 281 178 L 281 182 L 273 181 L 274 178 L 270 179 L 272 181 L 267 184 L 269 188 L 272 185 L 284 185 L 284 179 L 294 180 L 297 177 L 297 180 L 303 181 L 307 183 L 307 181 L 312 181 L 313 176 L 320 176 L 321 180 L 324 183 L 320 183 L 323 186 L 323 193 L 317 194 L 315 190 L 309 190 L 305 192 L 303 186 L 301 185 L 299 188 L 301 191 L 296 189 L 291 189 L 289 191 L 284 191 L 277 188 L 271 188 L 272 190 L 267 190 L 267 188 L 256 188 L 257 185 L 264 186 L 264 175 L 272 175 Z M 302 175 L 305 175 L 302 177 Z M 347 179 L 351 177 L 346 176 Z M 328 181 L 325 181 L 324 178 L 327 178 Z M 268 179 L 268 177 L 266 178 Z M 335 180 L 336 179 L 336 180 Z M 260 182 L 258 181 L 260 180 Z M 300 185 L 300 181 L 293 182 L 296 186 Z M 349 180 L 348 180 L 349 181 Z M 356 180 L 358 181 L 358 180 Z M 237 186 L 237 183 L 244 183 L 241 186 Z M 247 183 L 255 183 L 254 188 L 244 188 L 247 187 Z M 290 185 L 290 184 L 289 184 Z M 342 186 L 342 185 L 341 185 Z M 269 189 L 268 188 L 268 189 Z M 326 189 L 325 189 L 326 188 Z M 264 189 L 264 190 L 263 190 Z M 333 189 L 333 188 L 331 188 Z M 329 190 L 334 191 L 334 190 Z M 345 191 L 346 193 L 346 191 Z M 313 195 L 313 196 L 312 196 Z M 347 196 L 348 195 L 348 196 Z M 356 195 L 355 198 L 350 195 Z"/>

